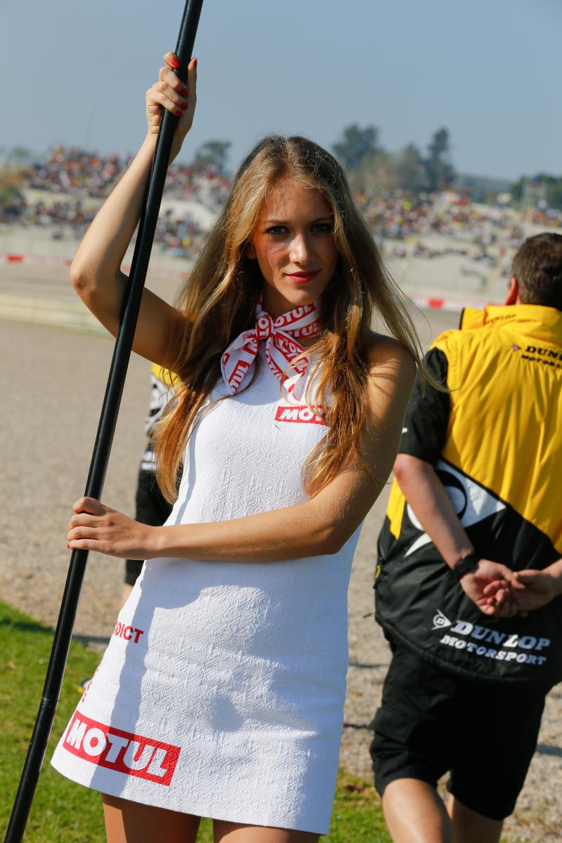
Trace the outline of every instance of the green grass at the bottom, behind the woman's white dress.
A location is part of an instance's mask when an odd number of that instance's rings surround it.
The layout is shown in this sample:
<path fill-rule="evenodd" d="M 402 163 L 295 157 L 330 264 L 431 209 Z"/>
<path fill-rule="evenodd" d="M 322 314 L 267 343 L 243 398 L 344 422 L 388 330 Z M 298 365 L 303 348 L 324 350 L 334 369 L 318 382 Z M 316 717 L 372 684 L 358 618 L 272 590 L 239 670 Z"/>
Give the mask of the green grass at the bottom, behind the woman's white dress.
<path fill-rule="evenodd" d="M 5 830 L 45 681 L 52 631 L 0 604 L 0 831 Z M 72 642 L 52 738 L 29 814 L 25 843 L 99 843 L 104 823 L 99 793 L 57 773 L 49 760 L 80 697 L 82 679 L 94 674 L 99 655 Z M 211 843 L 211 821 L 198 840 Z M 372 785 L 340 773 L 329 843 L 390 843 Z"/>

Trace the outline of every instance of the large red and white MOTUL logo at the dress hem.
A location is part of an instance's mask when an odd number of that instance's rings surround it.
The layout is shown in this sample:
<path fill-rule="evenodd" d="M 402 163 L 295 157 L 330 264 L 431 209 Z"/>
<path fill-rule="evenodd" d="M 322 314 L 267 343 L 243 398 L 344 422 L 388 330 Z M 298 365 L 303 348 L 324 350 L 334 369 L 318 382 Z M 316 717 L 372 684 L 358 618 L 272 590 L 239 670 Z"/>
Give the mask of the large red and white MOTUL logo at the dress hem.
<path fill-rule="evenodd" d="M 75 712 L 62 744 L 72 755 L 126 776 L 168 786 L 178 763 L 179 746 L 142 738 L 90 720 Z"/>

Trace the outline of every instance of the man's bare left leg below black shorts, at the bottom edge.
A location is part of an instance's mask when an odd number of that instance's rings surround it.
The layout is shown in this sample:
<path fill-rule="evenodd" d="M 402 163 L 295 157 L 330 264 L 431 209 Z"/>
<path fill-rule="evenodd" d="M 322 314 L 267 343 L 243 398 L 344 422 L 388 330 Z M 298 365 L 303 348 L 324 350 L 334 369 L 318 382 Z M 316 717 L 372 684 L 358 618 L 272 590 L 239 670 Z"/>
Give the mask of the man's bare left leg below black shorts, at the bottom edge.
<path fill-rule="evenodd" d="M 394 843 L 453 843 L 452 824 L 442 798 L 426 781 L 391 781 L 383 793 L 383 812 Z"/>

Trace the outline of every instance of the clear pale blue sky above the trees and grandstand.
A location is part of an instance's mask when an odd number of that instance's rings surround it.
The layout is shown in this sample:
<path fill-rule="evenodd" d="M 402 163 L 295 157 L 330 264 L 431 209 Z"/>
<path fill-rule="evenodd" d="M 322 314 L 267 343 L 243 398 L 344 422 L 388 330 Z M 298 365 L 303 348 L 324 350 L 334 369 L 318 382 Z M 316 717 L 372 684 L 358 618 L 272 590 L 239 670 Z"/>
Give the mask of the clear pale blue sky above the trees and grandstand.
<path fill-rule="evenodd" d="M 0 148 L 135 152 L 184 0 L 0 0 Z M 394 152 L 447 126 L 462 173 L 562 174 L 562 0 L 205 0 L 180 159 L 267 132 L 329 148 L 350 123 Z"/>

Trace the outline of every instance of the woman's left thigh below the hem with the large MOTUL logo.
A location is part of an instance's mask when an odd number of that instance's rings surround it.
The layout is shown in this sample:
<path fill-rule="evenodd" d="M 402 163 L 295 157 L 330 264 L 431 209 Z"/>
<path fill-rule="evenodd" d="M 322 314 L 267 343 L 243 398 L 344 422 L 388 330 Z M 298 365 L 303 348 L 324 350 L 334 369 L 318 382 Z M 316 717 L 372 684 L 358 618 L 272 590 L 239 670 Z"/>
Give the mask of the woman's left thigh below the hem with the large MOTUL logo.
<path fill-rule="evenodd" d="M 107 843 L 195 843 L 201 817 L 102 794 Z"/>

